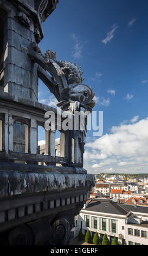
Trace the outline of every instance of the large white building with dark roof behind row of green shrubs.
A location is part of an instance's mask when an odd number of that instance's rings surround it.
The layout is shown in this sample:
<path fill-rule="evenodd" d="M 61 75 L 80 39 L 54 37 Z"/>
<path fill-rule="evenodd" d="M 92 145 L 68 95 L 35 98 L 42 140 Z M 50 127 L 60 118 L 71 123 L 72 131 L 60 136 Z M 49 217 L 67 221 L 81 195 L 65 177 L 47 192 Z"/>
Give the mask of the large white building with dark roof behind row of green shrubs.
<path fill-rule="evenodd" d="M 124 205 L 109 199 L 92 199 L 80 211 L 75 236 L 80 228 L 83 235 L 87 229 L 92 236 L 97 231 L 100 240 L 106 233 L 110 243 L 115 236 L 119 245 L 148 245 L 148 208 Z"/>

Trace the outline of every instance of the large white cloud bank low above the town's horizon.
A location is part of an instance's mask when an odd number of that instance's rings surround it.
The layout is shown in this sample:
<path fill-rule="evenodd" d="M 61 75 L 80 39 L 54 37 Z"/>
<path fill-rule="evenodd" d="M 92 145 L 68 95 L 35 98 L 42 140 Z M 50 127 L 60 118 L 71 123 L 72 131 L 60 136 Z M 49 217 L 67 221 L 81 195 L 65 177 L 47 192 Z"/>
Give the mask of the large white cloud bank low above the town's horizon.
<path fill-rule="evenodd" d="M 136 120 L 138 115 L 130 124 L 113 126 L 110 134 L 86 144 L 84 162 L 89 172 L 148 171 L 148 118 Z"/>

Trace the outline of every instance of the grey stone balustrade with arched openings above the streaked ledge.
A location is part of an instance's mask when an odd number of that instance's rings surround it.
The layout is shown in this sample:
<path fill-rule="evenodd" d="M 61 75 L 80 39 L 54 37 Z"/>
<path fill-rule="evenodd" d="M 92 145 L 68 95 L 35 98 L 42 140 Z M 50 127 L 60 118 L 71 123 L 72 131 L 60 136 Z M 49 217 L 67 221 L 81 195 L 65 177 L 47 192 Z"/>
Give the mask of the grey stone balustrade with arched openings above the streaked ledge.
<path fill-rule="evenodd" d="M 47 118 L 45 113 L 53 111 L 55 114 L 55 129 L 58 127 L 57 109 L 48 107 L 41 103 L 25 102 L 23 97 L 15 100 L 12 95 L 2 93 L 0 95 L 0 139 L 1 151 L 0 161 L 18 162 L 25 164 L 55 165 L 62 166 L 83 166 L 83 142 L 80 140 L 80 131 L 66 130 L 60 131 L 60 144 L 57 150 L 56 130 L 45 129 L 44 153 L 38 149 L 38 126 L 44 127 Z M 73 120 L 74 116 L 68 113 L 69 119 Z M 61 121 L 66 120 L 67 116 L 62 115 Z M 24 145 L 16 133 L 15 124 L 24 125 Z M 74 125 L 74 123 L 73 123 Z M 23 148 L 24 147 L 24 148 Z M 20 148 L 20 150 L 18 150 Z M 23 148 L 23 150 L 21 150 Z M 56 154 L 56 151 L 59 154 Z"/>

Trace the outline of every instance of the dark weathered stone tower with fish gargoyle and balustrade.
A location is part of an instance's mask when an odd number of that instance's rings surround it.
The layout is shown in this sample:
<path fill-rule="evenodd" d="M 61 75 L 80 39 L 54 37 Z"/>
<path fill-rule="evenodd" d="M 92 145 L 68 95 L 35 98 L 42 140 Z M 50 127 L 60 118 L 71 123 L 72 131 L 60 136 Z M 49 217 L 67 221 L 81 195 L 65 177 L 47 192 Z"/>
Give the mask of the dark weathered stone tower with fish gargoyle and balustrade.
<path fill-rule="evenodd" d="M 39 48 L 42 22 L 57 3 L 0 0 L 0 241 L 7 231 L 9 245 L 66 245 L 74 216 L 95 185 L 83 169 L 93 90 L 82 84 L 79 66 Z M 38 77 L 55 95 L 61 115 L 38 102 Z M 82 113 L 83 130 L 74 129 L 75 111 Z M 54 129 L 48 121 L 52 113 Z M 67 114 L 72 129 L 59 124 L 59 116 L 64 122 Z M 39 125 L 46 132 L 43 149 L 38 148 Z"/>

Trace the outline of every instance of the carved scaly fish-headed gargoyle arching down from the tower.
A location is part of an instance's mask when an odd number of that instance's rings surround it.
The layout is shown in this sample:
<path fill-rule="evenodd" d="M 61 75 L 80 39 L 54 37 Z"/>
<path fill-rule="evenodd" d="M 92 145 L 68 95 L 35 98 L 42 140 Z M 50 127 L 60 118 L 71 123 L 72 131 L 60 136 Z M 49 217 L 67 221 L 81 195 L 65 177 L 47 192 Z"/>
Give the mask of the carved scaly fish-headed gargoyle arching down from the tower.
<path fill-rule="evenodd" d="M 58 107 L 72 112 L 84 107 L 92 112 L 95 106 L 94 92 L 92 88 L 82 84 L 84 78 L 80 66 L 56 60 L 56 53 L 50 50 L 43 55 L 35 42 L 28 47 L 28 54 L 38 64 L 39 77 L 59 101 Z"/>

